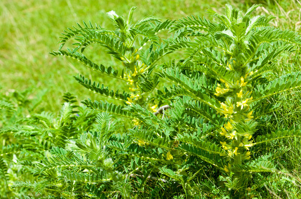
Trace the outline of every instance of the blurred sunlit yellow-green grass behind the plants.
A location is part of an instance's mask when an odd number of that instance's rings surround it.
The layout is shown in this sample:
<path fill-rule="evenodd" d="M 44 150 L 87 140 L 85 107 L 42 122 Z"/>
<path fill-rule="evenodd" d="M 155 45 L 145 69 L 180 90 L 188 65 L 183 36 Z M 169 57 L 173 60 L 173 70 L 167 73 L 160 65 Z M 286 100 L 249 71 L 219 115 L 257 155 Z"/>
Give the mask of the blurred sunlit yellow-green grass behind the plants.
<path fill-rule="evenodd" d="M 105 79 L 104 76 L 95 76 L 93 73 L 91 76 L 89 69 L 71 58 L 48 54 L 52 50 L 57 51 L 57 42 L 60 40 L 58 37 L 63 30 L 76 25 L 76 22 L 82 24 L 82 20 L 90 20 L 92 24 L 96 22 L 104 28 L 112 29 L 106 12 L 115 10 L 117 14 L 126 16 L 132 6 L 138 7 L 133 16 L 135 22 L 147 15 L 155 15 L 162 20 L 190 15 L 206 16 L 207 8 L 222 12 L 226 3 L 243 10 L 247 10 L 253 3 L 263 3 L 256 14 L 273 14 L 277 18 L 272 25 L 301 31 L 299 0 L 0 0 L 1 91 L 9 93 L 29 89 L 29 99 L 41 98 L 41 104 L 36 109 L 38 112 L 57 111 L 65 92 L 73 93 L 80 100 L 87 97 L 105 100 L 83 88 L 72 76 L 82 73 L 114 90 L 124 88 L 124 85 L 118 85 L 118 82 L 116 84 L 114 80 Z M 212 17 L 208 18 L 212 20 Z M 85 54 L 93 56 L 92 60 L 98 64 L 115 64 L 97 46 L 90 46 L 86 51 Z M 293 64 L 279 70 L 299 70 L 300 55 L 295 53 L 286 63 Z"/>

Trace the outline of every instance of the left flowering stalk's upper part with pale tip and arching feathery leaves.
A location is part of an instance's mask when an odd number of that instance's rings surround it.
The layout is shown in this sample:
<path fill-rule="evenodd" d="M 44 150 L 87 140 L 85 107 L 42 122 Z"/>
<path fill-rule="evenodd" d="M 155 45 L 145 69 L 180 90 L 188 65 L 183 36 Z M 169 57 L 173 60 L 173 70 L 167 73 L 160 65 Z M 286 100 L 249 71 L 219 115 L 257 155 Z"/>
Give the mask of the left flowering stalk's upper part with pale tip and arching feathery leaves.
<path fill-rule="evenodd" d="M 155 16 L 147 16 L 142 20 L 139 20 L 135 24 L 132 24 L 132 16 L 136 7 L 132 7 L 129 12 L 128 18 L 117 15 L 113 10 L 107 13 L 108 18 L 113 22 L 116 30 L 110 31 L 100 25 L 92 25 L 89 22 L 87 25 L 85 22 L 84 27 L 78 25 L 78 28 L 73 26 L 73 29 L 68 28 L 68 31 L 63 33 L 60 43 L 61 46 L 58 52 L 50 52 L 55 56 L 67 56 L 76 59 L 86 67 L 107 76 L 108 78 L 116 79 L 116 81 L 123 82 L 129 85 L 129 91 L 131 94 L 119 93 L 117 91 L 110 91 L 104 85 L 100 85 L 97 82 L 92 82 L 91 79 L 87 79 L 82 75 L 78 75 L 75 79 L 84 87 L 93 91 L 96 94 L 117 99 L 126 104 L 140 104 L 149 106 L 152 110 L 155 107 L 152 106 L 154 99 L 147 98 L 158 84 L 157 77 L 151 77 L 150 74 L 156 67 L 157 61 L 159 61 L 164 55 L 169 52 L 165 52 L 166 44 L 159 44 L 159 37 L 157 33 L 164 29 L 168 29 L 172 24 L 172 20 L 166 20 L 160 22 Z M 76 43 L 74 49 L 67 48 L 67 51 L 62 50 L 65 43 L 73 39 Z M 137 44 L 138 43 L 138 44 Z M 96 64 L 87 58 L 85 55 L 77 52 L 84 52 L 87 46 L 91 44 L 98 44 L 105 47 L 105 51 L 112 55 L 114 58 L 120 61 L 120 66 L 123 66 L 122 71 L 113 69 L 113 67 L 105 67 L 102 64 Z M 149 44 L 148 48 L 144 51 L 143 46 Z M 152 51 L 154 46 L 157 46 L 156 50 Z M 101 110 L 103 111 L 103 110 Z M 114 112 L 112 111 L 114 114 Z"/>

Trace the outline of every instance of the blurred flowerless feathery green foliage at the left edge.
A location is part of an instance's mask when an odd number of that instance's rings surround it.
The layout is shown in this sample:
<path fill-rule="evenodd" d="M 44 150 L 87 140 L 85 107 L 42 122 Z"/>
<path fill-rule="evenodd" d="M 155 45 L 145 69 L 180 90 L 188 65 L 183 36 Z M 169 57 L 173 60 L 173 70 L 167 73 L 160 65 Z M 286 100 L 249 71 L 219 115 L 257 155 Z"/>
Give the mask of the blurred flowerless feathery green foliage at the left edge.
<path fill-rule="evenodd" d="M 31 188 L 38 189 L 40 183 L 45 185 L 45 182 L 39 182 L 40 177 L 28 175 L 34 173 L 33 162 L 43 159 L 48 150 L 64 147 L 67 139 L 79 138 L 85 131 L 96 129 L 96 111 L 75 105 L 77 101 L 70 93 L 64 95 L 64 101 L 58 115 L 32 111 L 15 117 L 0 129 L 1 198 L 25 194 Z M 16 107 L 17 111 L 20 108 Z M 24 108 L 22 110 L 25 112 Z M 37 183 L 30 185 L 29 181 Z M 16 185 L 12 186 L 14 183 Z M 12 189 L 18 185 L 24 188 Z"/>

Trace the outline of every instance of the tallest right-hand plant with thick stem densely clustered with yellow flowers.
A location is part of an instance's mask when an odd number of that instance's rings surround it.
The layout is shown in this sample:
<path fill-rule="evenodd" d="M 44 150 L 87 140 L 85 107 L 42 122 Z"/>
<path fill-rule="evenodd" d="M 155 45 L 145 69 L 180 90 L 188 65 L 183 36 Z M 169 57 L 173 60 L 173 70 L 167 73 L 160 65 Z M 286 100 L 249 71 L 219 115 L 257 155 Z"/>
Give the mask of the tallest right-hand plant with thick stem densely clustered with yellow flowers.
<path fill-rule="evenodd" d="M 267 99 L 301 85 L 298 72 L 273 75 L 277 56 L 300 46 L 300 36 L 270 27 L 273 16 L 250 17 L 258 6 L 243 13 L 226 4 L 225 15 L 208 9 L 206 13 L 219 19 L 217 24 L 194 16 L 180 19 L 171 27 L 175 36 L 169 39 L 169 50 L 184 50 L 186 69 L 198 71 L 200 76 L 192 79 L 177 68 L 157 73 L 175 83 L 177 95 L 189 97 L 183 97 L 183 107 L 214 126 L 208 134 L 201 130 L 178 133 L 176 150 L 197 156 L 229 175 L 225 185 L 237 198 L 245 196 L 249 174 L 275 172 L 271 162 L 252 160 L 250 148 L 300 135 L 299 126 L 290 126 L 253 137 L 256 120 L 277 106 L 267 106 Z"/>

